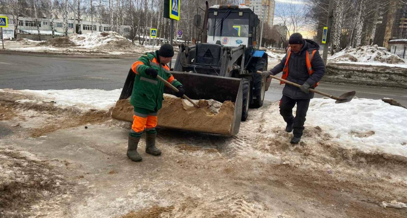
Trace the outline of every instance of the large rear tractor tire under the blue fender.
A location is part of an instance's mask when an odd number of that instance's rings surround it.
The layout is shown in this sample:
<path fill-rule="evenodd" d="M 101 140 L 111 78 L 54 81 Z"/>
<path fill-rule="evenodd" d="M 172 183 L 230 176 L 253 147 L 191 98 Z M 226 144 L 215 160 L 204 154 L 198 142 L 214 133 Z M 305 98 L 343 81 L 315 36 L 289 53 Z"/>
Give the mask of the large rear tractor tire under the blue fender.
<path fill-rule="evenodd" d="M 252 59 L 249 64 L 249 72 L 253 73 L 253 103 L 250 108 L 260 108 L 263 106 L 264 95 L 266 92 L 266 78 L 263 78 L 257 71 L 265 71 L 266 60 L 263 58 Z"/>

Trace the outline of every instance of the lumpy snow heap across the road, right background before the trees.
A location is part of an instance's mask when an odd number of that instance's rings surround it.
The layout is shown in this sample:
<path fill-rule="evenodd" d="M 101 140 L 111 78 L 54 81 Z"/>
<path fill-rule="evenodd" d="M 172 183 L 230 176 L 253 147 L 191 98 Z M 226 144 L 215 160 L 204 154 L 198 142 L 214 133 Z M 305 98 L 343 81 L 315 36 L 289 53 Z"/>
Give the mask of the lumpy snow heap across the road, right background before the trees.
<path fill-rule="evenodd" d="M 328 58 L 329 62 L 376 62 L 397 64 L 406 63 L 395 54 L 391 54 L 384 47 L 362 46 L 357 48 L 347 47 Z"/>

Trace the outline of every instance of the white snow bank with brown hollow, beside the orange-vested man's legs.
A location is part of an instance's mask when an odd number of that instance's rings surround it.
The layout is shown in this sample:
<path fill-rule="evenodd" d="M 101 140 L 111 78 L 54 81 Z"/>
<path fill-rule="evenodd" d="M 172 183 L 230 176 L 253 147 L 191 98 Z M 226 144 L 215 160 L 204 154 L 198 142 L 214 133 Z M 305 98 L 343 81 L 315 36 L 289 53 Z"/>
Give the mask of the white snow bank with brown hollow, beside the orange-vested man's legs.
<path fill-rule="evenodd" d="M 314 98 L 306 125 L 318 125 L 333 140 L 366 153 L 407 156 L 407 109 L 382 100 L 360 98 L 335 104 L 331 99 Z"/>

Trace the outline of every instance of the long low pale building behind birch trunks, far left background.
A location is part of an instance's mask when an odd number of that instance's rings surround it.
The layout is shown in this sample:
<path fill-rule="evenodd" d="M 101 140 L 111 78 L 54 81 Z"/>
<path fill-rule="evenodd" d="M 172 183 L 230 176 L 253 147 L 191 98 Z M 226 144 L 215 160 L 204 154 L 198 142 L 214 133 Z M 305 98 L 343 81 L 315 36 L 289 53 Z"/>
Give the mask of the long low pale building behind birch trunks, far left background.
<path fill-rule="evenodd" d="M 8 27 L 3 28 L 4 38 L 7 37 L 14 37 L 15 31 L 15 24 L 16 24 L 16 17 L 11 15 L 0 15 L 0 16 L 7 16 L 8 18 Z M 39 18 L 39 30 L 41 35 L 52 35 L 52 28 L 51 28 L 51 19 L 49 18 Z M 78 20 L 75 22 L 78 27 Z M 68 34 L 72 34 L 74 32 L 74 20 L 68 19 L 67 22 L 68 26 Z M 54 19 L 54 34 L 55 35 L 63 35 L 64 28 L 63 28 L 63 19 Z M 109 24 L 100 24 L 98 22 L 91 22 L 82 20 L 80 25 L 80 30 L 82 33 L 90 33 L 93 31 L 110 31 Z M 130 26 L 122 26 L 121 27 L 121 34 L 123 36 L 128 36 L 130 33 Z M 32 17 L 23 17 L 20 16 L 18 18 L 18 26 L 17 26 L 17 33 L 26 33 L 26 34 L 38 34 L 37 30 L 37 23 L 35 22 L 35 18 Z M 78 32 L 78 30 L 77 30 Z"/>

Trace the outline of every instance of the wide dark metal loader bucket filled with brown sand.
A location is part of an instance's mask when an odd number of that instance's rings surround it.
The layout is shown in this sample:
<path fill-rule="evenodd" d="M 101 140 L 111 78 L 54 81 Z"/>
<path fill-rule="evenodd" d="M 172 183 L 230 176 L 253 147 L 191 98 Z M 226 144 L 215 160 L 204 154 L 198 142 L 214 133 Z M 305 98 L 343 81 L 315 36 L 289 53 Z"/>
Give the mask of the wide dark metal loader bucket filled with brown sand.
<path fill-rule="evenodd" d="M 172 71 L 175 79 L 191 99 L 214 99 L 222 104 L 217 114 L 203 108 L 188 106 L 180 98 L 165 99 L 158 111 L 159 127 L 206 132 L 219 135 L 235 135 L 239 132 L 242 116 L 242 81 L 211 75 Z M 173 94 L 168 87 L 164 93 Z M 133 107 L 129 99 L 119 100 L 112 110 L 112 118 L 133 122 Z"/>

